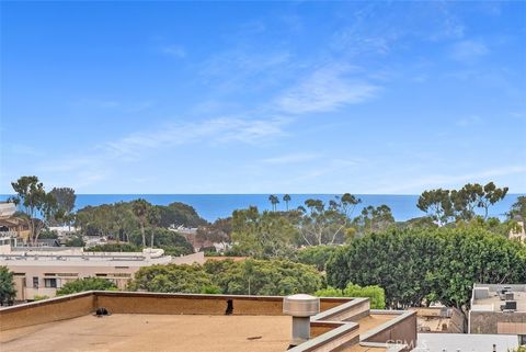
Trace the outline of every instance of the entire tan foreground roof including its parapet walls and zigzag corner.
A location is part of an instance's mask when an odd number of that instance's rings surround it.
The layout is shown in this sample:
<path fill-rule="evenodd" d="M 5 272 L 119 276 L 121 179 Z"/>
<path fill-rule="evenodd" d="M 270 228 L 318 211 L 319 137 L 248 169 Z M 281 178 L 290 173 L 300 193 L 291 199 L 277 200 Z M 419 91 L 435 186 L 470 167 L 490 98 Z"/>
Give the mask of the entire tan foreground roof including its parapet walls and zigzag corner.
<path fill-rule="evenodd" d="M 230 303 L 229 303 L 230 302 Z M 227 304 L 232 315 L 225 315 Z M 8 351 L 274 352 L 289 347 L 291 317 L 283 297 L 88 292 L 0 309 Z M 111 316 L 93 316 L 105 307 Z M 415 342 L 411 311 L 370 310 L 367 298 L 320 298 L 311 339 L 290 352 L 400 352 Z"/>

